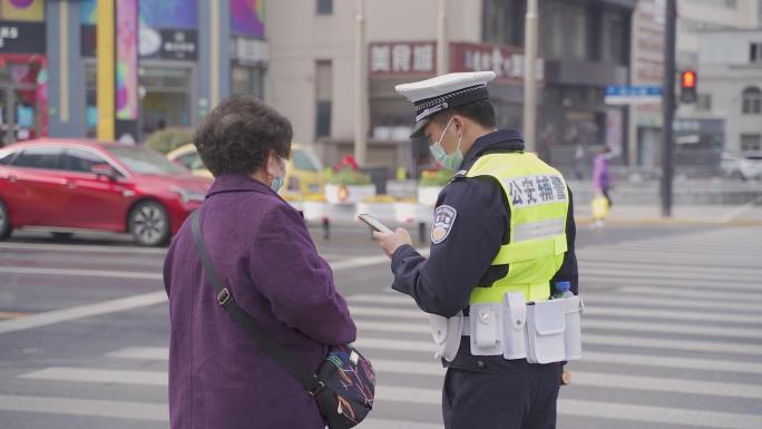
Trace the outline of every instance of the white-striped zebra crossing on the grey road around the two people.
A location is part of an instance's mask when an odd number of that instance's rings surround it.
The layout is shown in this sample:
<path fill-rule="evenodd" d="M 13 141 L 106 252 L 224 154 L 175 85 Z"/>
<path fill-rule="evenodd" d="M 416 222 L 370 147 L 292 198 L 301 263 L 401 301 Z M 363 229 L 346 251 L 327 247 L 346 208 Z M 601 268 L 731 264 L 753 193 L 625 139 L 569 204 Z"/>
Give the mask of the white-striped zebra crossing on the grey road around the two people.
<path fill-rule="evenodd" d="M 579 248 L 584 358 L 568 367 L 573 384 L 561 388 L 558 428 L 762 428 L 760 237 L 760 228 L 717 228 Z M 424 314 L 392 291 L 348 302 L 356 347 L 378 372 L 377 406 L 361 427 L 441 428 L 444 370 Z M 71 393 L 3 390 L 0 411 L 165 428 L 165 402 L 94 397 L 87 387 L 165 392 L 167 358 L 164 345 L 133 344 L 86 367 L 21 371 L 18 386 L 66 383 Z"/>

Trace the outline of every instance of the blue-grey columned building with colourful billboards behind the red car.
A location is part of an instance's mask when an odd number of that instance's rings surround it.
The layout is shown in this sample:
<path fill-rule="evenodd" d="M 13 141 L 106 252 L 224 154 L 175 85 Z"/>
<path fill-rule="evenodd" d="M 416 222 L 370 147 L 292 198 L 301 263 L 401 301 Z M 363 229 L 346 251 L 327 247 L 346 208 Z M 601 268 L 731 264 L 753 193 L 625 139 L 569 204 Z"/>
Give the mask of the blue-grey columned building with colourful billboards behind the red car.
<path fill-rule="evenodd" d="M 95 137 L 98 0 L 0 2 L 2 142 Z M 193 127 L 229 94 L 264 96 L 264 2 L 118 0 L 117 116 L 136 140 L 164 127 Z M 118 135 L 115 137 L 119 137 Z"/>

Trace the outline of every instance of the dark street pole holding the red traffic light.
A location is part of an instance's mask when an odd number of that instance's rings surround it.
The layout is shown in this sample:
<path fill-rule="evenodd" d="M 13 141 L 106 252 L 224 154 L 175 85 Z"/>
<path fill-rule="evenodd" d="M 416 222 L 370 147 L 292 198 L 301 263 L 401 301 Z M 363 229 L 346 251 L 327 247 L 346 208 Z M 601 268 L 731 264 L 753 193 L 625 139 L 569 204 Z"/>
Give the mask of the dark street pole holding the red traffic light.
<path fill-rule="evenodd" d="M 673 123 L 675 119 L 675 39 L 677 27 L 676 0 L 666 1 L 664 45 L 664 140 L 662 142 L 662 216 L 672 216 Z"/>

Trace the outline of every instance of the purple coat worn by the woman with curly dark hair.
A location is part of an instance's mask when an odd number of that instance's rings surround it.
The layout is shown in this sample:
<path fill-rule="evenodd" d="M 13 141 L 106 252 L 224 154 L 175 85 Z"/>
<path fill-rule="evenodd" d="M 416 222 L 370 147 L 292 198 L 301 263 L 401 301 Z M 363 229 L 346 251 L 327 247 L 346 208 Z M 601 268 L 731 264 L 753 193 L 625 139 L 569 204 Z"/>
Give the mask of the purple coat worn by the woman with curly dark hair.
<path fill-rule="evenodd" d="M 236 302 L 312 370 L 355 340 L 299 212 L 265 184 L 217 177 L 201 208 L 212 261 Z M 217 304 L 186 222 L 164 263 L 172 429 L 323 428 L 314 400 Z"/>

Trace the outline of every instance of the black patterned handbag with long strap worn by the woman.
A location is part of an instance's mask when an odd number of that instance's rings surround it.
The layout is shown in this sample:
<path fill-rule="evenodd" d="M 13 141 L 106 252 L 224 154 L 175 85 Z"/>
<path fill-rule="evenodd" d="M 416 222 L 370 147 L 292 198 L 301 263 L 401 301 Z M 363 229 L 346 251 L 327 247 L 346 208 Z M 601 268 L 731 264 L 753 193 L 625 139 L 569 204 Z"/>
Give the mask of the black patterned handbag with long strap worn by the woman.
<path fill-rule="evenodd" d="M 206 277 L 214 285 L 217 302 L 227 311 L 251 338 L 318 401 L 318 408 L 330 429 L 346 429 L 362 421 L 373 407 L 375 373 L 370 361 L 352 345 L 332 345 L 328 357 L 313 373 L 296 361 L 233 299 L 204 244 L 199 209 L 192 215 L 193 240 L 202 260 Z"/>

